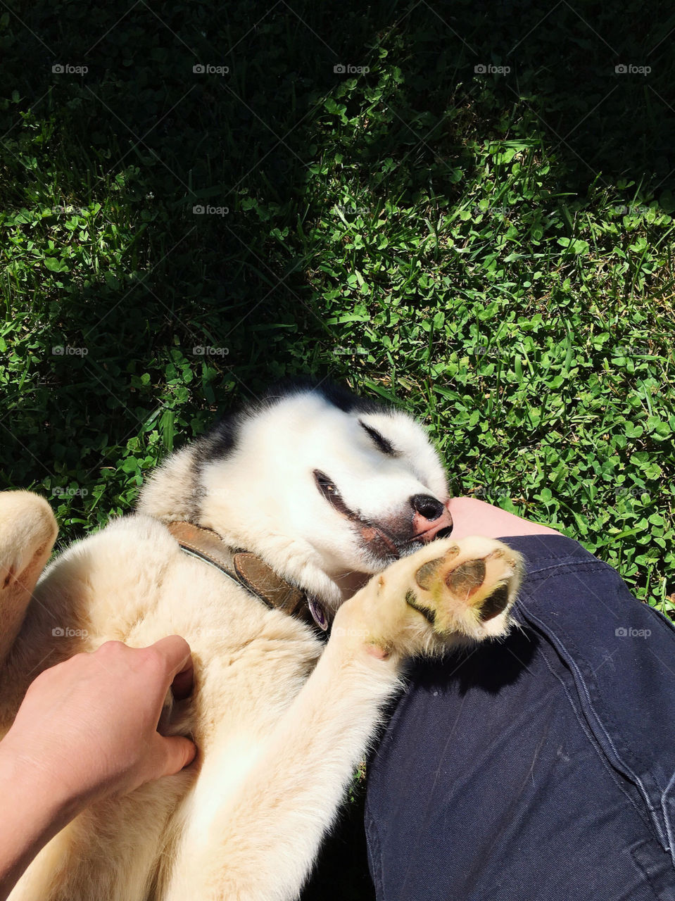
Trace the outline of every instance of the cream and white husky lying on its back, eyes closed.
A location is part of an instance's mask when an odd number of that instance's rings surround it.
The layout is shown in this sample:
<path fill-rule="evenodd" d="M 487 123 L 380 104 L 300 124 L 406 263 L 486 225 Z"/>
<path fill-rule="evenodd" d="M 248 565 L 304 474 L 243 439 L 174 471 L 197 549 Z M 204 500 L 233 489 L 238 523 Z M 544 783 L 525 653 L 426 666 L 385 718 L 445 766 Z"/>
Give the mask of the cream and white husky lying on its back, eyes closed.
<path fill-rule="evenodd" d="M 12 901 L 296 898 L 405 661 L 508 630 L 522 561 L 492 540 L 453 542 L 447 500 L 413 419 L 302 383 L 169 456 L 135 514 L 40 578 L 53 514 L 0 494 L 19 511 L 0 579 L 0 735 L 46 666 L 178 633 L 195 687 L 168 697 L 160 730 L 199 751 L 78 815 Z"/>

